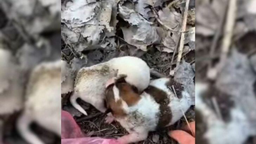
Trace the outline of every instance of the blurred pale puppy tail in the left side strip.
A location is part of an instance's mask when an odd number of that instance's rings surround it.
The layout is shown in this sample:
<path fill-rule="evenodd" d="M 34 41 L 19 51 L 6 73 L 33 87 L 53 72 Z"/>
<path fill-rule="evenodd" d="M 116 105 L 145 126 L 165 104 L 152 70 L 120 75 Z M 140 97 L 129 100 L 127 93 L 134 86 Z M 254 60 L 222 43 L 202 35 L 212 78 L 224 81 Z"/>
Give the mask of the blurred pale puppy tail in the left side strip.
<path fill-rule="evenodd" d="M 23 137 L 28 143 L 31 144 L 44 144 L 35 133 L 30 130 L 30 124 L 32 123 L 32 119 L 30 116 L 26 115 L 25 113 L 19 117 L 16 126 L 19 134 Z"/>

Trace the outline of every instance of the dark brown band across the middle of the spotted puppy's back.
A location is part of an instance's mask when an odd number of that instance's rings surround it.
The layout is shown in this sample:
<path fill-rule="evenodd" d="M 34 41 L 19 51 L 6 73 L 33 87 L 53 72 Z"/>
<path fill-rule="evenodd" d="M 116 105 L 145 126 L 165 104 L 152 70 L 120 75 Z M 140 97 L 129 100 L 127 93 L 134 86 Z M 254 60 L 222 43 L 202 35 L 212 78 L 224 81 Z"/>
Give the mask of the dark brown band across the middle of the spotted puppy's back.
<path fill-rule="evenodd" d="M 154 87 L 148 86 L 145 90 L 148 94 L 150 94 L 160 105 L 160 113 L 159 113 L 159 120 L 158 120 L 158 129 L 164 128 L 172 119 L 172 111 L 168 104 L 170 103 L 170 99 L 167 96 L 167 93 Z"/>

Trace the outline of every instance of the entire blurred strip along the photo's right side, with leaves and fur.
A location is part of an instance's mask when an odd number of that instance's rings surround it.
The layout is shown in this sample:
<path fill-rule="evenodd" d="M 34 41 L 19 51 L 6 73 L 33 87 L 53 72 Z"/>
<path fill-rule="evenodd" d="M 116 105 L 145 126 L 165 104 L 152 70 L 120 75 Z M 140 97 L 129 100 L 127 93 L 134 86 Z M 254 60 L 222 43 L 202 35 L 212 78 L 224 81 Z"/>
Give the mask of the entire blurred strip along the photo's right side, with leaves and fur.
<path fill-rule="evenodd" d="M 256 0 L 196 0 L 196 143 L 256 143 Z"/>

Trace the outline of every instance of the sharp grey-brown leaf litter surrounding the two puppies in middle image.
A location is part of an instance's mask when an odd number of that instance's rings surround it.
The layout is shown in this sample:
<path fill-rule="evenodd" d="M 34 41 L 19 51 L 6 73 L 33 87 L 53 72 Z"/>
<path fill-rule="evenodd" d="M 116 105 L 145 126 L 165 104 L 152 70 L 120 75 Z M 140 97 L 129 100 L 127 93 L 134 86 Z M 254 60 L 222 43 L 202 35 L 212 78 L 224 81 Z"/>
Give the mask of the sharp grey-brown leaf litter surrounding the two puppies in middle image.
<path fill-rule="evenodd" d="M 190 5 L 185 31 L 184 60 L 176 67 L 181 25 L 185 4 L 167 7 L 172 0 L 66 0 L 62 1 L 62 60 L 76 73 L 79 68 L 92 66 L 115 57 L 132 55 L 146 61 L 152 78 L 174 78 L 192 90 L 194 75 L 192 65 L 195 57 L 194 0 Z M 153 7 L 154 6 L 154 7 Z M 86 12 L 86 13 L 85 13 Z M 82 100 L 78 103 L 88 111 L 88 116 L 73 109 L 69 102 L 71 93 L 62 94 L 63 109 L 69 111 L 82 131 L 91 137 L 117 138 L 127 132 L 116 122 L 105 124 L 105 115 Z M 195 119 L 194 107 L 186 112 L 189 121 Z M 168 130 L 184 125 L 182 118 L 161 132 L 151 132 L 139 144 L 171 143 Z"/>

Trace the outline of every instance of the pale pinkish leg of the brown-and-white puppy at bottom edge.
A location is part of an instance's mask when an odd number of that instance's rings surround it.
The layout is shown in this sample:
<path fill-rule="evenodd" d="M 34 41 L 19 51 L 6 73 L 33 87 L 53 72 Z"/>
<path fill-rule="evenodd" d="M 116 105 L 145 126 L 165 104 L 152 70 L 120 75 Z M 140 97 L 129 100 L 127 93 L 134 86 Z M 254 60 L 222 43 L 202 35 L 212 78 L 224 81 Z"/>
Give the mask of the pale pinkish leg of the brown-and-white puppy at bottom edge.
<path fill-rule="evenodd" d="M 148 137 L 148 132 L 133 132 L 129 135 L 122 136 L 117 139 L 118 142 L 121 144 L 130 144 L 130 143 L 136 143 L 140 142 L 141 140 L 145 140 Z"/>

